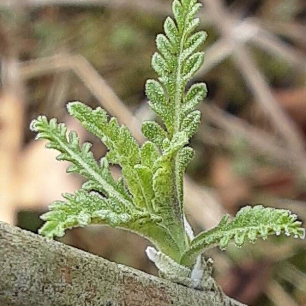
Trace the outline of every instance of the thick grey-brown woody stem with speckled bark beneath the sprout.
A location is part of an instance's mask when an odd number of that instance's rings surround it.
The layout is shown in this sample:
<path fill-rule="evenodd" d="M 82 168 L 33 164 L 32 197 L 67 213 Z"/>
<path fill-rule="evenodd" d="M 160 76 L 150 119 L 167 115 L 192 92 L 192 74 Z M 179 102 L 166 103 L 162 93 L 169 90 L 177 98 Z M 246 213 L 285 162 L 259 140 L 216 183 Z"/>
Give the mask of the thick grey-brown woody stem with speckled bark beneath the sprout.
<path fill-rule="evenodd" d="M 242 305 L 0 222 L 0 305 Z"/>

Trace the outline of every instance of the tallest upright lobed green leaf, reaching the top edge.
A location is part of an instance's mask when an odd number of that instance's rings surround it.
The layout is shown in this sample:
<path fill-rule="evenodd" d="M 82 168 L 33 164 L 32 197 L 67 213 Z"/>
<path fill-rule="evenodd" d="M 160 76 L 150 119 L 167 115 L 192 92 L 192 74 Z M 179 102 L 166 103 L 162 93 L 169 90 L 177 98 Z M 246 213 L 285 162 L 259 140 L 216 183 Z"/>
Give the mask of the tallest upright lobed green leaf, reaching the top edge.
<path fill-rule="evenodd" d="M 148 104 L 162 119 L 166 130 L 152 121 L 142 125 L 146 138 L 162 150 L 162 156 L 155 163 L 152 181 L 153 205 L 164 215 L 165 224 L 176 232 L 174 239 L 181 241 L 182 248 L 188 245 L 187 235 L 182 233 L 183 176 L 193 157 L 192 149 L 184 146 L 197 131 L 200 112 L 194 109 L 207 93 L 206 85 L 201 83 L 193 85 L 185 95 L 187 83 L 203 62 L 203 53 L 198 49 L 207 35 L 203 31 L 193 34 L 199 24 L 195 15 L 200 7 L 197 0 L 173 2 L 174 19 L 166 18 L 165 34 L 157 36 L 158 52 L 152 56 L 158 81 L 146 82 Z M 160 184 L 167 184 L 168 189 Z"/>

